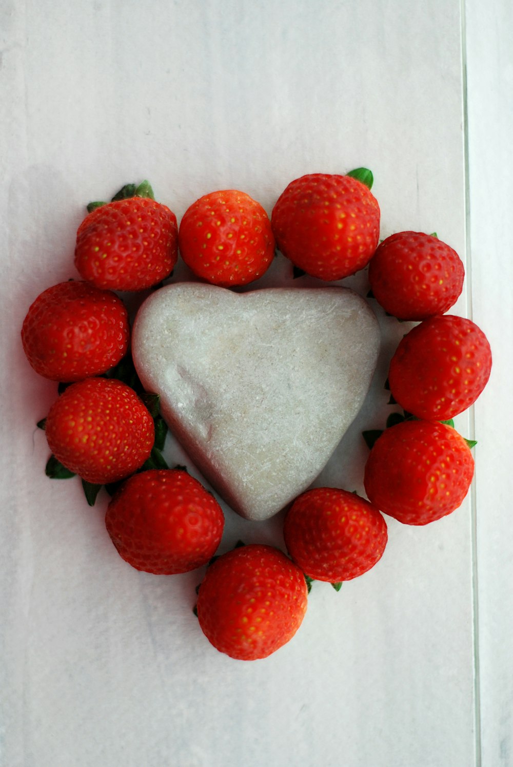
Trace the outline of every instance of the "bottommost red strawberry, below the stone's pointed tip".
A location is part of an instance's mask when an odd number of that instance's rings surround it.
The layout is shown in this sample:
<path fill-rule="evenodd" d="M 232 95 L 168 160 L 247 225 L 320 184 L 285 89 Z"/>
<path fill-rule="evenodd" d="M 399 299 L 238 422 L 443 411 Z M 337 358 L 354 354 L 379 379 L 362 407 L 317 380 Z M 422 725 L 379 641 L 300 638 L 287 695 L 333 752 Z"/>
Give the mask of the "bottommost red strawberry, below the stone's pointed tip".
<path fill-rule="evenodd" d="M 265 658 L 294 636 L 307 609 L 307 584 L 272 546 L 250 544 L 216 559 L 199 587 L 198 620 L 222 653 Z"/>

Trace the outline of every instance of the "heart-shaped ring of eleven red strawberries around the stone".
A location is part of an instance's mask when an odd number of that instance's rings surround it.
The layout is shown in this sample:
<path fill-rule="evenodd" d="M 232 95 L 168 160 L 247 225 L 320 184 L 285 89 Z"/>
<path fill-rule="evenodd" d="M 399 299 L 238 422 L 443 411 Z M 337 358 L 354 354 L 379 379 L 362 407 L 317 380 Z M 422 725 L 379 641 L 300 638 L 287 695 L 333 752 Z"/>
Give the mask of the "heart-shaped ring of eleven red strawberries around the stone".
<path fill-rule="evenodd" d="M 302 176 L 278 195 L 270 219 L 247 194 L 219 190 L 193 202 L 179 227 L 149 183 L 123 186 L 111 202 L 87 206 L 74 254 L 81 280 L 44 290 L 21 329 L 31 367 L 59 382 L 38 423 L 51 450 L 48 476 L 79 476 L 90 505 L 105 486 L 106 535 L 133 568 L 170 575 L 207 565 L 199 627 L 235 659 L 265 658 L 291 640 L 312 581 L 338 590 L 373 568 L 386 547 L 384 515 L 426 525 L 458 509 L 472 482 L 475 443 L 452 419 L 482 393 L 492 354 L 472 321 L 446 314 L 462 291 L 461 259 L 423 232 L 380 243 L 372 183 L 364 168 Z M 286 552 L 252 544 L 215 556 L 222 508 L 185 467 L 170 469 L 163 458 L 168 424 L 133 365 L 123 291 L 158 288 L 179 253 L 201 281 L 248 285 L 271 268 L 276 247 L 296 276 L 332 282 L 368 266 L 368 298 L 419 323 L 390 362 L 391 401 L 403 413 L 363 434 L 367 499 L 347 488 L 307 489 L 284 510 Z M 195 407 L 207 407 L 201 386 L 192 388 Z"/>

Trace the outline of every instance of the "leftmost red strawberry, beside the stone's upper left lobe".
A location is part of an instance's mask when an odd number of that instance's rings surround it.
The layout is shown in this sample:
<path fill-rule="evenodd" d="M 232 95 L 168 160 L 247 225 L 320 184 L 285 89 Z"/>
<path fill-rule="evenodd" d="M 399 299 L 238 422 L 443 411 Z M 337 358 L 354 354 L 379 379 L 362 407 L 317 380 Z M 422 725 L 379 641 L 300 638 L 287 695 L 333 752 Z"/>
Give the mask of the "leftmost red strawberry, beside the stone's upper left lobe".
<path fill-rule="evenodd" d="M 23 321 L 21 343 L 36 373 L 76 381 L 105 373 L 127 353 L 127 309 L 110 291 L 68 281 L 35 299 Z"/>

